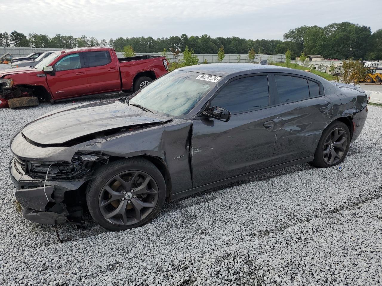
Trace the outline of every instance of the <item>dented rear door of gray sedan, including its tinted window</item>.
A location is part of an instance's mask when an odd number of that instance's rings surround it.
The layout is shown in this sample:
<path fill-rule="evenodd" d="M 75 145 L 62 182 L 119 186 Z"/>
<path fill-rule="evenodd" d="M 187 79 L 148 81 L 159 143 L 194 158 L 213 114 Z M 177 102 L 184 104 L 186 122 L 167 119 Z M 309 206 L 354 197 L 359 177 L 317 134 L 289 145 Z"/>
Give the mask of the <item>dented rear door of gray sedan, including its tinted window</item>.
<path fill-rule="evenodd" d="M 302 85 L 304 80 L 307 89 Z M 324 94 L 322 84 L 309 78 L 296 79 L 295 76 L 275 74 L 275 82 L 279 122 L 274 163 L 282 164 L 313 156 L 322 131 L 330 123 L 332 101 Z M 314 84 L 309 85 L 309 82 Z M 288 92 L 291 94 L 288 95 Z M 298 98 L 298 94 L 302 98 Z"/>

